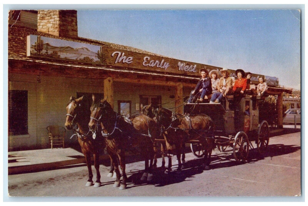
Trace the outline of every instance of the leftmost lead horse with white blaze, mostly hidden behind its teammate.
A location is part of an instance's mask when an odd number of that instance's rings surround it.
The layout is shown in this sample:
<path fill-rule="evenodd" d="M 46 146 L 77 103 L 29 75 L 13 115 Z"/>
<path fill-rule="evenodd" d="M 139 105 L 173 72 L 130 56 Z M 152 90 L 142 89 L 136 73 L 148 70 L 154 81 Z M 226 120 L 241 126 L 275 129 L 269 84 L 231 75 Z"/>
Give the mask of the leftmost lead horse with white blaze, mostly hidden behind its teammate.
<path fill-rule="evenodd" d="M 86 158 L 89 179 L 87 180 L 86 186 L 93 185 L 93 173 L 91 168 L 91 156 L 94 157 L 94 167 L 96 169 L 96 181 L 94 187 L 99 187 L 100 173 L 99 173 L 99 150 L 105 147 L 103 137 L 97 137 L 95 140 L 92 138 L 92 133 L 89 131 L 88 122 L 90 121 L 90 110 L 84 111 L 83 109 L 83 97 L 76 99 L 71 97 L 69 103 L 66 106 L 66 129 L 74 129 L 77 124 L 78 129 L 75 130 L 78 137 L 78 142 L 81 147 L 81 151 Z"/>

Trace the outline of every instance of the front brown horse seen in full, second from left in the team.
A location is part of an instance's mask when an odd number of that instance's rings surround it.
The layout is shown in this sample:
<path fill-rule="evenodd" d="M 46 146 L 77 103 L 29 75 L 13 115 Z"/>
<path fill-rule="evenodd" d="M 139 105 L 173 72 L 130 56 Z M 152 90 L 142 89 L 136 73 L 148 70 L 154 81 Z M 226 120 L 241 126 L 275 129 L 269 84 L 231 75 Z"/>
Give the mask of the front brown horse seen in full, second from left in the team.
<path fill-rule="evenodd" d="M 89 127 L 96 133 L 99 124 L 103 128 L 101 132 L 106 140 L 107 152 L 113 162 L 117 162 L 116 160 L 119 159 L 123 174 L 123 180 L 120 182 L 120 170 L 118 165 L 114 164 L 116 180 L 113 186 L 120 186 L 119 189 L 126 188 L 125 149 L 130 147 L 139 147 L 140 153 L 144 157 L 145 171 L 141 180 L 152 180 L 153 140 L 156 137 L 156 123 L 154 120 L 143 114 L 125 120 L 124 117 L 117 115 L 113 111 L 106 99 L 99 101 L 93 95 Z"/>

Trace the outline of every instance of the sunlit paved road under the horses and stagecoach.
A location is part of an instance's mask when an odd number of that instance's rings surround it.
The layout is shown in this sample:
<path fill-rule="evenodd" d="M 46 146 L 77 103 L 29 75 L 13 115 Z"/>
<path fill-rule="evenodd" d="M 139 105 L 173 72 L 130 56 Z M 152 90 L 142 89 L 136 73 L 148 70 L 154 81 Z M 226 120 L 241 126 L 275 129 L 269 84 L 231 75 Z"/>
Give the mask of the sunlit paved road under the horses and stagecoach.
<path fill-rule="evenodd" d="M 232 153 L 214 151 L 211 169 L 199 167 L 201 160 L 186 154 L 188 162 L 181 173 L 164 174 L 156 169 L 151 183 L 139 179 L 143 162 L 127 164 L 128 189 L 113 188 L 114 179 L 106 177 L 108 167 L 101 165 L 102 186 L 85 187 L 85 164 L 62 169 L 9 175 L 10 196 L 300 196 L 301 141 L 300 133 L 271 137 L 269 152 L 264 158 L 250 150 L 249 162 L 237 164 Z M 176 168 L 176 157 L 172 159 Z M 159 163 L 161 159 L 159 160 Z M 107 165 L 107 164 L 105 164 Z M 92 166 L 93 170 L 94 167 Z M 95 174 L 94 174 L 95 176 Z M 95 179 L 95 177 L 94 177 Z M 133 199 L 136 200 L 136 199 Z"/>

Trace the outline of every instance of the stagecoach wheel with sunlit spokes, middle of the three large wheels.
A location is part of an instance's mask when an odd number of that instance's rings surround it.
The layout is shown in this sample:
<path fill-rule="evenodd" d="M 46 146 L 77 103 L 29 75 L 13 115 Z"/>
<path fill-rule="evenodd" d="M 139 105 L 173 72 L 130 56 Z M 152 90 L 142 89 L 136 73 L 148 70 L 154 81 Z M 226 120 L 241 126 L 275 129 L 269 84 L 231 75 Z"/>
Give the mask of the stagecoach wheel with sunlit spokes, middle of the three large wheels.
<path fill-rule="evenodd" d="M 249 140 L 245 132 L 241 131 L 235 135 L 233 142 L 233 156 L 237 162 L 244 162 L 248 157 Z"/>

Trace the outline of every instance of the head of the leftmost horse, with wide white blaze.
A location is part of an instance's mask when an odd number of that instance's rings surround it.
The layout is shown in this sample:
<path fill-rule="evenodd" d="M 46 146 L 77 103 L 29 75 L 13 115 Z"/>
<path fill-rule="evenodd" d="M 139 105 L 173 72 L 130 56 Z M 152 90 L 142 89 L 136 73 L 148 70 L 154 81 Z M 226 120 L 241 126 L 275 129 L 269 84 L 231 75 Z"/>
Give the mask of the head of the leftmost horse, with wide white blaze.
<path fill-rule="evenodd" d="M 70 101 L 66 106 L 66 121 L 65 121 L 65 128 L 66 129 L 73 129 L 75 125 L 75 120 L 78 116 L 80 111 L 80 102 L 83 100 L 83 96 L 76 99 L 75 97 L 71 96 Z"/>

